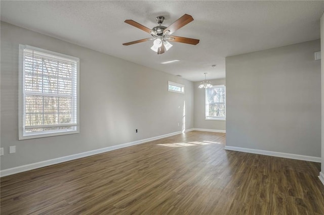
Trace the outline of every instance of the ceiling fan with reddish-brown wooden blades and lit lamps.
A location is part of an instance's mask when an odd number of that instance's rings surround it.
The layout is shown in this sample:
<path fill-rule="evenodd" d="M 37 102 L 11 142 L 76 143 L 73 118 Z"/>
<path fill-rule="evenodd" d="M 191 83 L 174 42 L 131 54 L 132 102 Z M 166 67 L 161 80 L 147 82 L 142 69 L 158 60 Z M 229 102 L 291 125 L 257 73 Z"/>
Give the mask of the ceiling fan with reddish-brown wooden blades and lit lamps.
<path fill-rule="evenodd" d="M 172 44 L 169 41 L 172 42 L 182 42 L 187 43 L 191 45 L 196 45 L 199 43 L 198 39 L 192 39 L 187 37 L 180 37 L 180 36 L 173 36 L 173 34 L 176 30 L 182 28 L 189 22 L 193 21 L 192 16 L 185 14 L 182 17 L 180 17 L 177 21 L 172 23 L 169 27 L 163 26 L 162 23 L 164 21 L 163 16 L 156 17 L 156 22 L 159 24 L 158 26 L 155 26 L 152 29 L 149 29 L 134 20 L 125 20 L 127 24 L 133 25 L 136 28 L 139 28 L 149 34 L 151 34 L 152 38 L 145 38 L 140 39 L 132 42 L 123 43 L 123 45 L 132 45 L 139 42 L 145 42 L 148 40 L 154 40 L 153 46 L 151 49 L 157 53 L 157 55 L 163 54 L 166 50 L 169 50 L 171 48 Z"/>

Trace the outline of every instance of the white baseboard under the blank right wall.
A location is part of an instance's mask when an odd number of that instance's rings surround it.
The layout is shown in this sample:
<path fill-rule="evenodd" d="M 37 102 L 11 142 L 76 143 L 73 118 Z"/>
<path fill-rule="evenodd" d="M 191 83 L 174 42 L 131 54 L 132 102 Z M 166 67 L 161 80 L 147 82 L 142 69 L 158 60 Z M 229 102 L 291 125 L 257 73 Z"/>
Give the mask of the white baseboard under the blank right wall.
<path fill-rule="evenodd" d="M 253 154 L 264 154 L 264 155 L 275 156 L 275 157 L 285 157 L 285 158 L 321 163 L 320 157 L 306 156 L 301 154 L 290 154 L 284 152 L 266 151 L 266 150 L 252 149 L 252 148 L 241 148 L 235 146 L 225 146 L 225 149 L 231 151 L 241 151 L 241 152 L 248 152 Z"/>

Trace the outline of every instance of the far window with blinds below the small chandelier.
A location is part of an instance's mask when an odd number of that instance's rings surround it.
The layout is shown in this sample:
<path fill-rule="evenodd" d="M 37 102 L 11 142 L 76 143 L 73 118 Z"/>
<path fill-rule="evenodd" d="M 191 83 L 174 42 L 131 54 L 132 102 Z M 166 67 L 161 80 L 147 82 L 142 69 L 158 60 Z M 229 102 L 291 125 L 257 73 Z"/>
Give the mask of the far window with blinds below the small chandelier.
<path fill-rule="evenodd" d="M 205 96 L 206 120 L 225 120 L 225 86 L 218 85 L 206 88 Z"/>

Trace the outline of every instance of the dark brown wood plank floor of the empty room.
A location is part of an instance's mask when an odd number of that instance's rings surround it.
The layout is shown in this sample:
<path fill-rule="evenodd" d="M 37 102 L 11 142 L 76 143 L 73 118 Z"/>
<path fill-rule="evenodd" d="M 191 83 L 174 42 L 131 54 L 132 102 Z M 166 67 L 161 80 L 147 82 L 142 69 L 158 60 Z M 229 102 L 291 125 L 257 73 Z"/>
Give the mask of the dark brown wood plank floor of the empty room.
<path fill-rule="evenodd" d="M 192 131 L 1 178 L 1 214 L 324 214 L 319 163 Z"/>

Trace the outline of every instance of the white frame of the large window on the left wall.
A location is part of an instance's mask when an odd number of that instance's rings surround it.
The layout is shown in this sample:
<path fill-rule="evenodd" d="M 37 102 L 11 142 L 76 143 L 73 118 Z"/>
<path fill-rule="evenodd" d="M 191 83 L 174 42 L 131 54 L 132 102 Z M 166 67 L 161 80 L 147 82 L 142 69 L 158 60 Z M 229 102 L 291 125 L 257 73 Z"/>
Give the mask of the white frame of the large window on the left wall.
<path fill-rule="evenodd" d="M 57 131 L 48 131 L 48 132 L 32 132 L 31 134 L 26 134 L 25 132 L 25 70 L 24 70 L 24 49 L 32 49 L 34 51 L 39 51 L 43 52 L 46 55 L 55 57 L 57 59 L 63 58 L 63 59 L 69 59 L 71 61 L 76 62 L 76 110 L 74 113 L 76 115 L 76 123 L 75 124 L 68 124 L 71 126 L 75 126 L 75 130 L 57 130 Z M 24 139 L 32 139 L 32 138 L 40 138 L 40 137 L 50 137 L 50 136 L 58 136 L 58 135 L 66 135 L 66 134 L 76 134 L 79 133 L 79 59 L 64 55 L 62 53 L 57 53 L 54 51 L 42 49 L 42 48 L 37 48 L 33 47 L 30 45 L 22 45 L 19 44 L 19 97 L 18 97 L 18 139 L 19 140 L 24 140 Z M 75 109 L 75 108 L 74 108 Z M 64 124 L 61 124 L 64 125 Z M 42 128 L 46 126 L 41 126 Z M 53 126 L 51 126 L 53 127 Z M 59 125 L 57 127 L 60 127 Z"/>

